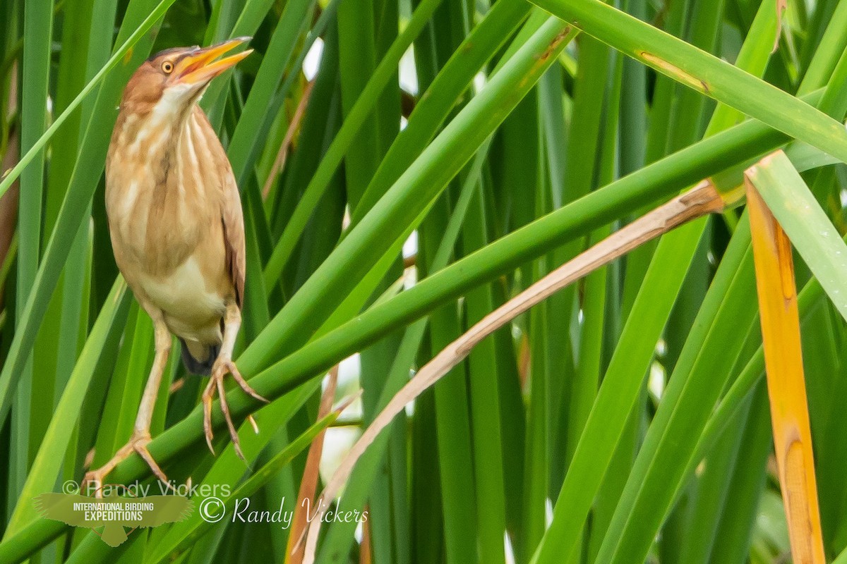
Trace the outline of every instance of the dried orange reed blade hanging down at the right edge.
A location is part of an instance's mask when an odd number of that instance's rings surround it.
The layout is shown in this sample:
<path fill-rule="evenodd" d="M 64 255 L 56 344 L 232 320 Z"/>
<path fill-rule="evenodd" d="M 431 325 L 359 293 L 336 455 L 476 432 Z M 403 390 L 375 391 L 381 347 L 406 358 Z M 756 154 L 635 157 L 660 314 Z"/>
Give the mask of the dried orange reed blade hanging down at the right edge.
<path fill-rule="evenodd" d="M 771 403 L 773 446 L 795 562 L 823 564 L 811 427 L 800 349 L 800 314 L 791 243 L 756 186 L 768 157 L 745 173 L 756 290 Z"/>

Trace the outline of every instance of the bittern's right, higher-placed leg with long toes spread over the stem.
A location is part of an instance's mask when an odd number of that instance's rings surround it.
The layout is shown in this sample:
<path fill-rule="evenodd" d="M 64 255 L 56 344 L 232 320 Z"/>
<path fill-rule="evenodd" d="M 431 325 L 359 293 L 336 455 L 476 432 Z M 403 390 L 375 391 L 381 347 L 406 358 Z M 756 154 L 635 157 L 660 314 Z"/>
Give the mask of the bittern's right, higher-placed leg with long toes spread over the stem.
<path fill-rule="evenodd" d="M 247 384 L 247 381 L 241 376 L 241 372 L 238 371 L 235 363 L 232 362 L 232 349 L 235 348 L 235 336 L 238 335 L 240 327 L 241 309 L 238 309 L 238 305 L 235 303 L 228 304 L 226 306 L 226 314 L 224 315 L 224 342 L 220 345 L 218 359 L 214 362 L 208 386 L 206 386 L 206 390 L 203 392 L 203 432 L 206 435 L 206 443 L 209 446 L 209 450 L 214 453 L 214 448 L 212 446 L 212 438 L 214 436 L 212 432 L 212 400 L 215 392 L 217 391 L 220 397 L 220 410 L 224 413 L 226 426 L 230 430 L 230 438 L 232 439 L 232 444 L 235 448 L 235 454 L 243 460 L 244 453 L 241 452 L 241 444 L 238 440 L 238 431 L 235 430 L 235 424 L 232 423 L 230 406 L 226 403 L 224 376 L 231 374 L 235 382 L 238 383 L 238 386 L 240 386 L 244 392 L 250 394 L 252 397 L 255 397 L 257 400 L 261 402 L 268 402 L 268 400 L 258 395 L 257 392 L 253 390 L 249 384 Z M 257 430 L 256 422 L 252 420 L 252 417 L 248 416 L 248 419 L 251 419 L 253 429 Z"/>

